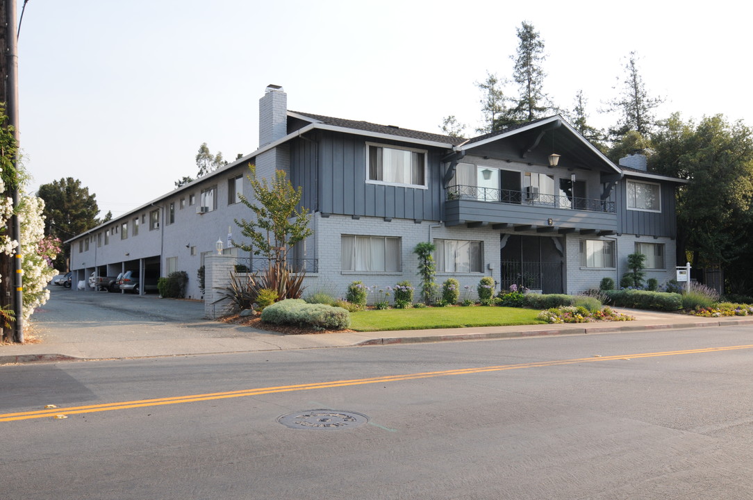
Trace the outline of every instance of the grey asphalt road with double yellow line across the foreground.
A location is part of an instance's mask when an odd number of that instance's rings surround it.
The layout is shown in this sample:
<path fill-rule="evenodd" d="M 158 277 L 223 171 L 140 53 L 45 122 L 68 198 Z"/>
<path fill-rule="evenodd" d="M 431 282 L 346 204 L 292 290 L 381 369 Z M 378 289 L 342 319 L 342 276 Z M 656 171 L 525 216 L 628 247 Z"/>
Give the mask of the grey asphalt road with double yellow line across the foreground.
<path fill-rule="evenodd" d="M 753 498 L 751 334 L 0 367 L 0 497 Z"/>

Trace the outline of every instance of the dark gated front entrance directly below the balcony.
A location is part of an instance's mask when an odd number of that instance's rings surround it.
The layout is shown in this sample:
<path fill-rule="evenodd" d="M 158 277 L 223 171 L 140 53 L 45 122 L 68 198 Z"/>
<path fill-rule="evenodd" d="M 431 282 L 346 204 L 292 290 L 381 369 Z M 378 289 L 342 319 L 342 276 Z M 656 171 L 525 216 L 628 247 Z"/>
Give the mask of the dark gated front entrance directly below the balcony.
<path fill-rule="evenodd" d="M 563 258 L 552 236 L 502 234 L 501 290 L 511 285 L 544 294 L 562 293 Z M 561 248 L 561 247 L 560 247 Z"/>

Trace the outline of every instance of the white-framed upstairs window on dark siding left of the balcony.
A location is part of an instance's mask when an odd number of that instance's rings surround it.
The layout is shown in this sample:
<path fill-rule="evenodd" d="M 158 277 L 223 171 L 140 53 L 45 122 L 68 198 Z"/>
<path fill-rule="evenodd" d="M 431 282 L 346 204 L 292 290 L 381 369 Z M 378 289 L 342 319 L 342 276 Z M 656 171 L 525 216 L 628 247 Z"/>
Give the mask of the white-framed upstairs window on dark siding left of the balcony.
<path fill-rule="evenodd" d="M 426 186 L 426 151 L 368 144 L 368 180 Z"/>

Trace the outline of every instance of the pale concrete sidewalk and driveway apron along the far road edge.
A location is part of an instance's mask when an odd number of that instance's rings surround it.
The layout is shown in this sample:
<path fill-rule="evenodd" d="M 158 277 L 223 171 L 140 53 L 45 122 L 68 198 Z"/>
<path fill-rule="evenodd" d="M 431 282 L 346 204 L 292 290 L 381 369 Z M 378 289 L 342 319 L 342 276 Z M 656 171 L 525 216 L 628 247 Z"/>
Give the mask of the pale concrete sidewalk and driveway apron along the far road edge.
<path fill-rule="evenodd" d="M 137 298 L 136 300 L 142 300 Z M 145 299 L 149 300 L 149 299 Z M 191 306 L 185 306 L 190 309 Z M 196 306 L 198 310 L 198 306 Z M 282 349 L 373 346 L 395 343 L 483 340 L 546 335 L 602 334 L 672 328 L 711 328 L 753 325 L 753 317 L 700 318 L 676 313 L 617 309 L 634 316 L 631 322 L 581 323 L 575 325 L 524 325 L 435 330 L 343 332 L 285 335 L 240 325 L 197 320 L 163 328 L 128 331 L 120 328 L 85 326 L 55 328 L 41 323 L 39 343 L 0 346 L 0 364 L 31 361 L 147 358 L 158 356 L 261 352 Z"/>

